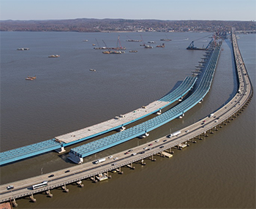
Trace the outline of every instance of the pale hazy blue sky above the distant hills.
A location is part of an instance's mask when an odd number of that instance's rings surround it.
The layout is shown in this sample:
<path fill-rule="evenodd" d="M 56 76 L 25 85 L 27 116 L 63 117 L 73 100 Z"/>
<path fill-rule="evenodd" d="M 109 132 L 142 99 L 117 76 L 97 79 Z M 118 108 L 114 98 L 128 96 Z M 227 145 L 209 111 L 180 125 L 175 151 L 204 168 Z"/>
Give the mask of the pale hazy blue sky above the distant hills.
<path fill-rule="evenodd" d="M 255 0 L 0 0 L 0 20 L 256 20 Z"/>

